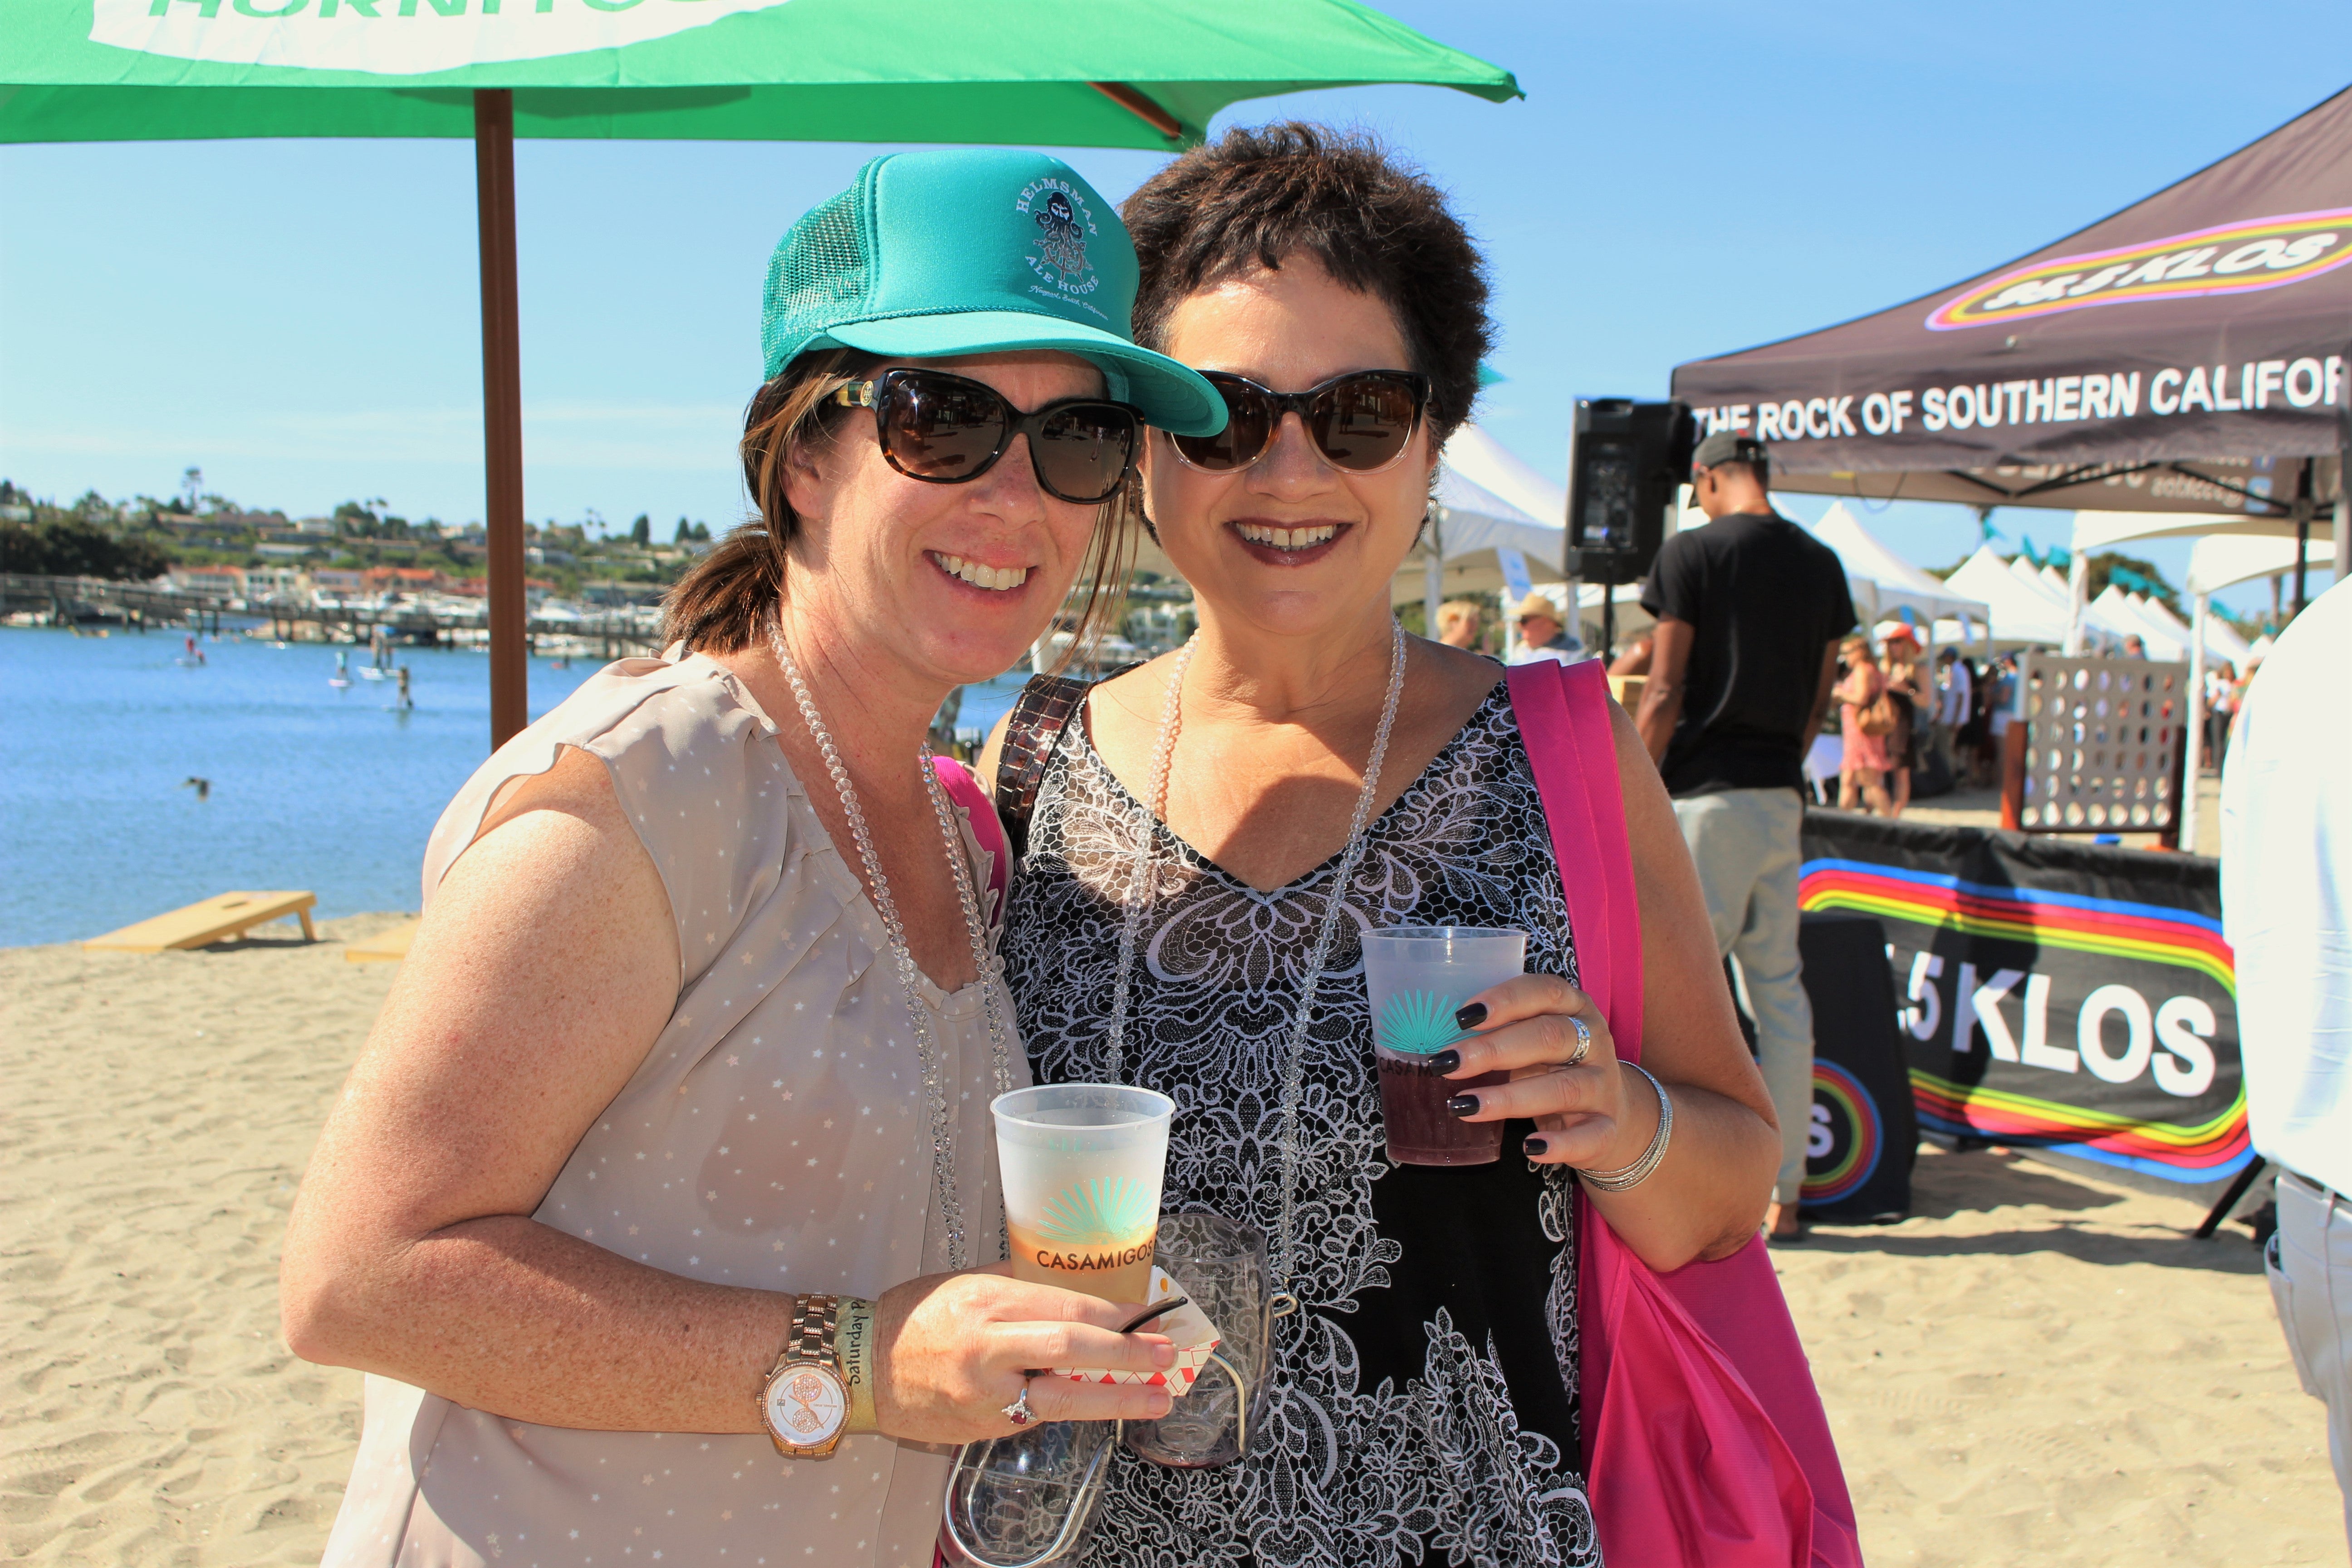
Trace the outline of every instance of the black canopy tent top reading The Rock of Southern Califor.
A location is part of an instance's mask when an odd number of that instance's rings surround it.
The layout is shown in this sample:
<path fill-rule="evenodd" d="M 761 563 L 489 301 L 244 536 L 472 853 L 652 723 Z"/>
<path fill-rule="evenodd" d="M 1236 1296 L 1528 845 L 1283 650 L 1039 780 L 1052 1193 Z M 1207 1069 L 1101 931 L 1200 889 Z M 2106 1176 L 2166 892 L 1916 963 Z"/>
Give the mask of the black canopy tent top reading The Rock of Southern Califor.
<path fill-rule="evenodd" d="M 1675 397 L 1771 442 L 1780 489 L 2293 529 L 2343 494 L 2347 353 L 2352 89 L 1957 287 L 1684 364 Z"/>

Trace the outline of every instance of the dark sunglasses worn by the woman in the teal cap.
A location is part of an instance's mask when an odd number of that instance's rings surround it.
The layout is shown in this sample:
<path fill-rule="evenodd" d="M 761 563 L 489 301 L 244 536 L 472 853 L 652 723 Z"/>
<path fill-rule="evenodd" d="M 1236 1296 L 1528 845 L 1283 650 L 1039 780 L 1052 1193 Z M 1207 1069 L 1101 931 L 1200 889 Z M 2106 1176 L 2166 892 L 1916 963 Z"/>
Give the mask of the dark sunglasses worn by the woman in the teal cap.
<path fill-rule="evenodd" d="M 993 386 L 936 369 L 889 369 L 833 393 L 875 411 L 882 456 L 908 480 L 964 484 L 997 465 L 1016 435 L 1044 494 L 1077 505 L 1110 501 L 1136 463 L 1143 414 L 1105 397 L 1063 397 L 1023 414 Z"/>

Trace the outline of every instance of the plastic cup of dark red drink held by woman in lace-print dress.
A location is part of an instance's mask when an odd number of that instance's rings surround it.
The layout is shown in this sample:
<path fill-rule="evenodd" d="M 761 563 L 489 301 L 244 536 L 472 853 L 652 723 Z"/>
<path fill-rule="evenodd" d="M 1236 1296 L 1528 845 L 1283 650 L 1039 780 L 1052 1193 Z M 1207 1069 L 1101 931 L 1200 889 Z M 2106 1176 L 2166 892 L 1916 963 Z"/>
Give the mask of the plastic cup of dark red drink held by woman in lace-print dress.
<path fill-rule="evenodd" d="M 1503 1157 L 1503 1124 L 1463 1121 L 1446 1100 L 1508 1074 L 1449 1079 L 1430 1058 L 1468 1037 L 1454 1025 L 1461 1004 L 1519 973 L 1526 973 L 1526 931 L 1395 926 L 1364 933 L 1381 1117 L 1388 1157 L 1399 1166 L 1484 1166 Z"/>

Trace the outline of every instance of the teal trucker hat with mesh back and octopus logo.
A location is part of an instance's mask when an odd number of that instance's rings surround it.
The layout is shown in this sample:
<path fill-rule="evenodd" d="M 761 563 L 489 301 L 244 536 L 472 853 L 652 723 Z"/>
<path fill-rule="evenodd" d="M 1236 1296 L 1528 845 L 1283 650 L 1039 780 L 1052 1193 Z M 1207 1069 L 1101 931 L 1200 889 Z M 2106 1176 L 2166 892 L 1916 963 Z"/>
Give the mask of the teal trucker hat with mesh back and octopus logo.
<path fill-rule="evenodd" d="M 767 263 L 767 378 L 811 348 L 891 360 L 1058 348 L 1176 435 L 1216 435 L 1225 400 L 1136 348 L 1136 247 L 1077 169 L 1014 148 L 889 153 L 811 207 Z"/>

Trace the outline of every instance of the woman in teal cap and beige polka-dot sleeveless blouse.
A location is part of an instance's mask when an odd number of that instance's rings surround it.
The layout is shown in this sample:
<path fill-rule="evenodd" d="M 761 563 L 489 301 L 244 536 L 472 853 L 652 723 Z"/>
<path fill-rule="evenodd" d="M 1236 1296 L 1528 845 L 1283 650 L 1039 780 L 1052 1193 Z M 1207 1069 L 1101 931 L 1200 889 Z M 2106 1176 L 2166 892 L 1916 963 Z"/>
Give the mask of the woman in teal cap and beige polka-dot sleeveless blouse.
<path fill-rule="evenodd" d="M 941 1443 L 1167 1408 L 1028 1378 L 1167 1366 L 1131 1312 L 967 1272 L 1028 1065 L 922 745 L 1115 581 L 1141 421 L 1223 418 L 1134 287 L 1033 153 L 882 158 L 779 244 L 757 520 L 456 795 L 303 1180 L 287 1338 L 369 1373 L 332 1563 L 929 1563 Z"/>

